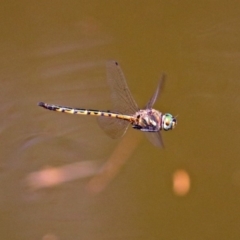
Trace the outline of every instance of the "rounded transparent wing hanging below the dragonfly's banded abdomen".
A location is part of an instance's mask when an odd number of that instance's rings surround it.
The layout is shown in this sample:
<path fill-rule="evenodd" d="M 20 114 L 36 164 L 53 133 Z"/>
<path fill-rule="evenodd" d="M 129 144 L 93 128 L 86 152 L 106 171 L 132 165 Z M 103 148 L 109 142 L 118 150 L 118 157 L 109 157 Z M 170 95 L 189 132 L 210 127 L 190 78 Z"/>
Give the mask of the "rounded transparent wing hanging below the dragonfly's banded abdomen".
<path fill-rule="evenodd" d="M 103 131 L 111 138 L 122 137 L 129 126 L 128 121 L 124 121 L 117 118 L 109 117 L 98 117 L 98 125 L 103 129 Z"/>

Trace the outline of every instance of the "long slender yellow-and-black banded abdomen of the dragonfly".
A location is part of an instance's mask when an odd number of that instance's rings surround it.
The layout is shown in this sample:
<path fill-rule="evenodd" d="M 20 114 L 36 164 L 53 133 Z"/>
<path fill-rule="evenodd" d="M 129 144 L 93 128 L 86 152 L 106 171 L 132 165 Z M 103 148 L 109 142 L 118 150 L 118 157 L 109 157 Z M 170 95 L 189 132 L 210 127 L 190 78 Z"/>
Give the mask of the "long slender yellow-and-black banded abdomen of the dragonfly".
<path fill-rule="evenodd" d="M 44 103 L 44 102 L 39 102 L 38 106 L 46 108 L 51 111 L 57 111 L 57 112 L 62 112 L 62 113 L 118 118 L 118 119 L 122 119 L 122 120 L 127 120 L 131 123 L 135 121 L 135 118 L 133 116 L 112 113 L 109 111 L 99 111 L 99 110 L 92 110 L 92 109 L 64 107 L 64 106 L 53 105 L 53 104 L 48 104 L 48 103 Z"/>

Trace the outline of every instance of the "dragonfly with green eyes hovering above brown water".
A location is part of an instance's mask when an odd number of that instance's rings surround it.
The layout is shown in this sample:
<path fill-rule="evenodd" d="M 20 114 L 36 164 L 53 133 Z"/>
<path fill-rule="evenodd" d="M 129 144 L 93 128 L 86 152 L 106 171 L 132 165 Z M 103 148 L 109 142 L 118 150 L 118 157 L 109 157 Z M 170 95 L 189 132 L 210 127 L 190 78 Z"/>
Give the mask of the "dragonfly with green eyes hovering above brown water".
<path fill-rule="evenodd" d="M 111 111 L 65 107 L 44 102 L 39 102 L 38 105 L 62 113 L 97 116 L 99 126 L 112 138 L 123 136 L 129 125 L 132 125 L 134 129 L 144 132 L 154 146 L 163 147 L 161 130 L 172 130 L 177 124 L 176 117 L 172 114 L 163 114 L 152 108 L 164 85 L 165 75 L 163 74 L 160 78 L 158 86 L 146 106 L 140 109 L 132 97 L 118 62 L 108 61 L 106 67 L 107 80 L 111 88 Z"/>

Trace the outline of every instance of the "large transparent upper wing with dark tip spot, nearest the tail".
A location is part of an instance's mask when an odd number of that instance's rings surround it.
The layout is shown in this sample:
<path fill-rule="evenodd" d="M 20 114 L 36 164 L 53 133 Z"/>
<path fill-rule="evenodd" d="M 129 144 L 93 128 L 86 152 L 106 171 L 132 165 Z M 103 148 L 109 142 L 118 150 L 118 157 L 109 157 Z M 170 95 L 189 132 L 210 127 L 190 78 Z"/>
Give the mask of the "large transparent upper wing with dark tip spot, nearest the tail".
<path fill-rule="evenodd" d="M 111 88 L 113 110 L 118 113 L 134 114 L 139 110 L 128 88 L 118 62 L 107 62 L 107 80 Z"/>

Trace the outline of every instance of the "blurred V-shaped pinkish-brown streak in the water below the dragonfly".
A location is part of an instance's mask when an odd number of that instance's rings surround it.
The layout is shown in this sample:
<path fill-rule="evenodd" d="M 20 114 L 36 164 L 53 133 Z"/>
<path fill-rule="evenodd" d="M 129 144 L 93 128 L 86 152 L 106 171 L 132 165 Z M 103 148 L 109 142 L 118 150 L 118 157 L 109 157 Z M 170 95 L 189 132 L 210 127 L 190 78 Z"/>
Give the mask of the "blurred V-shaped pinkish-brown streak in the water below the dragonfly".
<path fill-rule="evenodd" d="M 31 190 L 49 188 L 63 183 L 84 178 L 93 178 L 86 186 L 90 193 L 100 193 L 117 176 L 125 162 L 131 157 L 140 143 L 141 134 L 131 131 L 128 136 L 121 139 L 105 164 L 100 161 L 81 161 L 61 167 L 47 167 L 31 172 L 27 175 L 25 183 Z"/>

